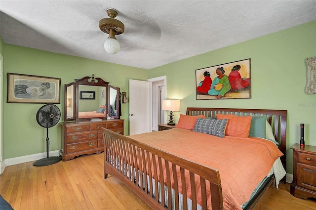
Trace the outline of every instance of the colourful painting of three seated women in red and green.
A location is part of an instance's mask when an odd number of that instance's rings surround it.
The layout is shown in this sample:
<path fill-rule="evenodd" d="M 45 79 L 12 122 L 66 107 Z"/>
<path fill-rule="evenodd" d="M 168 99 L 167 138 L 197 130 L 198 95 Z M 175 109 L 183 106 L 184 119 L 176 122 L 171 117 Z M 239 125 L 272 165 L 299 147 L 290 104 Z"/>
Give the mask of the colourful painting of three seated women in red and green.
<path fill-rule="evenodd" d="M 250 99 L 251 59 L 196 70 L 196 100 Z"/>

